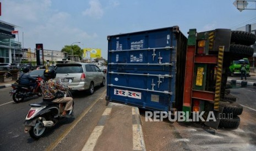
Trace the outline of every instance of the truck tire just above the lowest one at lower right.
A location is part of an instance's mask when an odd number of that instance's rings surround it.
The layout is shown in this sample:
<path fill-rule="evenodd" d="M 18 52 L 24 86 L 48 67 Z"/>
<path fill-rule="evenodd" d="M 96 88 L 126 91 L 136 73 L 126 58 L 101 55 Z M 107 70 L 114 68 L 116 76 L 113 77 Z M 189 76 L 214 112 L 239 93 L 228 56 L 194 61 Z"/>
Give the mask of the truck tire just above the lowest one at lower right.
<path fill-rule="evenodd" d="M 225 101 L 225 100 L 224 100 Z M 243 113 L 243 107 L 236 102 L 220 101 L 220 106 L 224 107 L 223 112 L 225 114 L 233 114 L 233 117 L 241 115 Z"/>

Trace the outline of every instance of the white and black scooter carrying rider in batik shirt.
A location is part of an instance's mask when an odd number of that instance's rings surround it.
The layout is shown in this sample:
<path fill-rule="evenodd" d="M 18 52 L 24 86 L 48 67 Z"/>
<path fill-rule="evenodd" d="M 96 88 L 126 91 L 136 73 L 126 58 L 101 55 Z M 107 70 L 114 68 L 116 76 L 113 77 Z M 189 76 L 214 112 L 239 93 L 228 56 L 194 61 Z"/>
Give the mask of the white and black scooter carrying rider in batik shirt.
<path fill-rule="evenodd" d="M 64 93 L 64 97 L 72 97 L 69 90 L 64 91 Z M 35 140 L 38 140 L 45 134 L 47 127 L 55 126 L 59 120 L 65 119 L 65 117 L 61 116 L 65 103 L 43 101 L 37 104 L 30 104 L 30 106 L 31 108 L 24 122 L 24 131 L 25 133 L 29 132 L 29 135 Z M 73 109 L 67 111 L 67 114 L 72 115 Z"/>

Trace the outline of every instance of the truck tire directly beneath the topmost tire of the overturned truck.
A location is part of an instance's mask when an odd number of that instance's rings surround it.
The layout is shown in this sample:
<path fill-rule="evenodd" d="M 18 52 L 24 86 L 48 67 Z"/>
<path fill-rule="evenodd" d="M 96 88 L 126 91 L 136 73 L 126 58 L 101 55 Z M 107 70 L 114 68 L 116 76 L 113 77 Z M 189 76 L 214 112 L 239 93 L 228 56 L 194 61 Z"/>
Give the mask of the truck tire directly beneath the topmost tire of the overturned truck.
<path fill-rule="evenodd" d="M 232 59 L 239 60 L 243 57 L 253 56 L 254 49 L 247 45 L 231 44 L 230 51 L 226 52 Z"/>

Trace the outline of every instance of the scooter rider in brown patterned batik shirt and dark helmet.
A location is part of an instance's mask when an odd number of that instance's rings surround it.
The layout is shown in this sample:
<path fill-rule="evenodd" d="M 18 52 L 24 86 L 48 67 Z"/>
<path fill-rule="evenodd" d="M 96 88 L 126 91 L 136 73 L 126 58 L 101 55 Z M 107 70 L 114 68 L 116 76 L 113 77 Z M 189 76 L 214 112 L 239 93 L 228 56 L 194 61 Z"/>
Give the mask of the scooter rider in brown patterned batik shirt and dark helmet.
<path fill-rule="evenodd" d="M 62 117 L 69 118 L 70 115 L 67 115 L 67 111 L 73 108 L 73 98 L 72 97 L 61 97 L 57 98 L 56 93 L 58 90 L 65 90 L 65 86 L 59 84 L 57 80 L 54 80 L 56 77 L 56 71 L 53 68 L 45 69 L 43 72 L 45 77 L 45 82 L 41 82 L 41 90 L 43 101 L 52 101 L 56 103 L 66 103 L 64 111 L 62 112 Z"/>

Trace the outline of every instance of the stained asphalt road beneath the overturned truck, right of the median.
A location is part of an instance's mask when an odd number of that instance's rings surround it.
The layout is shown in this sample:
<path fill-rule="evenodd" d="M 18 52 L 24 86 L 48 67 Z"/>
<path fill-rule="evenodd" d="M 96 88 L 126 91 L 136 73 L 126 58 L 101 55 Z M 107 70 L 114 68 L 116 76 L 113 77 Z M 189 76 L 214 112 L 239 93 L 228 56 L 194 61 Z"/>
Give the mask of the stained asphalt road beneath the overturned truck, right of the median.
<path fill-rule="evenodd" d="M 256 88 L 233 85 L 231 94 L 243 105 L 238 129 L 214 130 L 201 123 L 145 121 L 140 111 L 146 150 L 255 150 Z"/>

